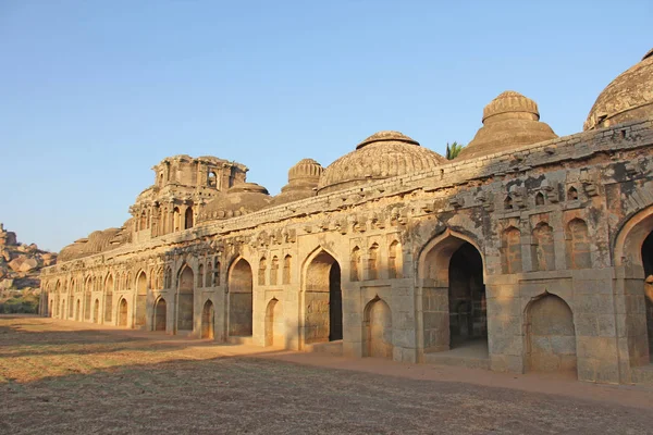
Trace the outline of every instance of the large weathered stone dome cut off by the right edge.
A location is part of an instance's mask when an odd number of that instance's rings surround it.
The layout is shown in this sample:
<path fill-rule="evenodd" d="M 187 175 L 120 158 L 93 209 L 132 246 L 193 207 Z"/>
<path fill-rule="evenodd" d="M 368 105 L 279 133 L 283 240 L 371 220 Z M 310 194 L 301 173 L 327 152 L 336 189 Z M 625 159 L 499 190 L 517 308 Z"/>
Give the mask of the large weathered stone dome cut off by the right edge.
<path fill-rule="evenodd" d="M 583 129 L 653 116 L 653 50 L 615 78 L 596 98 Z"/>

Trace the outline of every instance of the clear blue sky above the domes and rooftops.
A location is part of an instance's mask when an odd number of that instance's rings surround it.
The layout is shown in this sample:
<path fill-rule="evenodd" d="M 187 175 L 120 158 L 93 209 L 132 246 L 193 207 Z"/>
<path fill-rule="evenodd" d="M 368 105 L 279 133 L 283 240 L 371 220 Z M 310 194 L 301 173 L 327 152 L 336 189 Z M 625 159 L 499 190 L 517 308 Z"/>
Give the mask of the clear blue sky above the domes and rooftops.
<path fill-rule="evenodd" d="M 59 250 L 173 154 L 279 192 L 380 129 L 444 152 L 513 89 L 558 135 L 653 47 L 648 1 L 0 0 L 0 222 Z"/>

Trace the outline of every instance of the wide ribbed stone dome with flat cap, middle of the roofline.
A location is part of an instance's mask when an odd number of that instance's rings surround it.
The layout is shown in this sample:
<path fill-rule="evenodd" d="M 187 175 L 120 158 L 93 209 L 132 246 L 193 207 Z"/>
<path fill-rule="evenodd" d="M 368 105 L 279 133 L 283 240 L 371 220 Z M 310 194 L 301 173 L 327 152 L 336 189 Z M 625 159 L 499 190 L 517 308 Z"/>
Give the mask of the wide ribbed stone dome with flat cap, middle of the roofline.
<path fill-rule="evenodd" d="M 422 148 L 399 132 L 379 132 L 368 137 L 356 150 L 331 163 L 320 177 L 318 194 L 341 190 L 375 179 L 415 174 L 431 170 L 446 159 Z"/>

